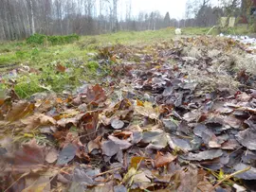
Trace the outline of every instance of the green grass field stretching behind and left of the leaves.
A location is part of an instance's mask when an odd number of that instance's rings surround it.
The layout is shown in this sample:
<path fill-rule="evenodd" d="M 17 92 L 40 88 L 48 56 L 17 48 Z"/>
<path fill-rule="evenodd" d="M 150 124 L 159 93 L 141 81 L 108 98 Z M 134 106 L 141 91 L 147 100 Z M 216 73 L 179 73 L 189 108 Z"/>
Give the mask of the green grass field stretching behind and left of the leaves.
<path fill-rule="evenodd" d="M 185 36 L 203 35 L 208 28 L 183 28 Z M 238 28 L 239 33 L 246 33 L 245 28 Z M 212 30 L 212 35 L 216 30 Z M 83 36 L 79 41 L 71 44 L 27 44 L 24 42 L 10 42 L 0 44 L 0 74 L 20 64 L 33 68 L 33 73 L 22 73 L 16 78 L 14 89 L 21 97 L 28 97 L 35 93 L 52 90 L 62 92 L 72 90 L 83 80 L 101 78 L 107 72 L 106 66 L 99 65 L 97 60 L 88 56 L 88 53 L 97 53 L 99 47 L 109 44 L 153 44 L 169 41 L 174 38 L 174 28 L 169 27 L 156 31 L 121 31 L 98 36 Z M 66 72 L 56 70 L 57 63 L 63 65 Z M 8 79 L 6 79 L 8 81 Z M 8 85 L 1 85 L 8 87 Z"/>

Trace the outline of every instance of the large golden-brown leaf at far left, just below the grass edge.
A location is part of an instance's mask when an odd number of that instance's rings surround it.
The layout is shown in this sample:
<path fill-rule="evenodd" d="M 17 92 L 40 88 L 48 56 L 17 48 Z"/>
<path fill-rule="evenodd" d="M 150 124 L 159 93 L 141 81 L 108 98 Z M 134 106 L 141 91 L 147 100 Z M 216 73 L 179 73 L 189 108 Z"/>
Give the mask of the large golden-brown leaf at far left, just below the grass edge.
<path fill-rule="evenodd" d="M 28 113 L 32 113 L 34 104 L 27 101 L 19 101 L 12 104 L 12 108 L 6 115 L 6 120 L 15 121 L 25 117 Z"/>

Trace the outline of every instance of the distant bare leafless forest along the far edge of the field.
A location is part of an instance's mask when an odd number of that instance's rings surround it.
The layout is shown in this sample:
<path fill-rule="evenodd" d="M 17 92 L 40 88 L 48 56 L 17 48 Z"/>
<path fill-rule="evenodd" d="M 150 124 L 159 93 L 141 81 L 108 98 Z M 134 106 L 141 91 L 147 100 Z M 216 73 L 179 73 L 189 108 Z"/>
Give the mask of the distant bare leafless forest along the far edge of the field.
<path fill-rule="evenodd" d="M 126 9 L 119 9 L 120 1 Z M 161 15 L 157 10 L 132 15 L 130 0 L 1 0 L 0 40 L 25 39 L 34 33 L 94 35 L 168 26 L 214 26 L 227 13 L 239 16 L 240 7 L 237 0 L 222 1 L 218 7 L 210 0 L 188 0 L 185 19 L 178 21 L 169 12 Z"/>

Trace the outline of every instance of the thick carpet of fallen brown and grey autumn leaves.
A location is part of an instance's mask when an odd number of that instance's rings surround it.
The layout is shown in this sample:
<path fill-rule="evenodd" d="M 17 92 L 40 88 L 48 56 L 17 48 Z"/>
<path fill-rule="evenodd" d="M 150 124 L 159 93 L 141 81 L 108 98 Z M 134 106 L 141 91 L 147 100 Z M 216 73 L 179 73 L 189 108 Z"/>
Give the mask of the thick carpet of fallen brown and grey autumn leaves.
<path fill-rule="evenodd" d="M 107 46 L 95 60 L 113 64 L 98 84 L 1 96 L 1 190 L 253 191 L 256 74 L 233 66 L 246 46 Z"/>

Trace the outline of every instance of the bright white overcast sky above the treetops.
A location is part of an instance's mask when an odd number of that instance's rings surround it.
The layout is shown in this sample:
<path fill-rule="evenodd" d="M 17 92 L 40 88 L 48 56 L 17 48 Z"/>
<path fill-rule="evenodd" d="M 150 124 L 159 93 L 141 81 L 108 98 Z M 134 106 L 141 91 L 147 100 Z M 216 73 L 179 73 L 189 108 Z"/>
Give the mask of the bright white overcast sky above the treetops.
<path fill-rule="evenodd" d="M 119 6 L 125 10 L 127 1 L 120 0 Z M 185 9 L 187 0 L 131 0 L 133 15 L 137 15 L 139 11 L 151 12 L 159 10 L 162 15 L 167 11 L 170 13 L 171 18 L 183 19 L 185 17 Z M 211 4 L 215 4 L 218 0 L 211 0 Z M 121 11 L 124 12 L 124 11 Z M 120 13 L 121 14 L 121 13 Z M 124 14 L 122 14 L 124 19 Z"/>

